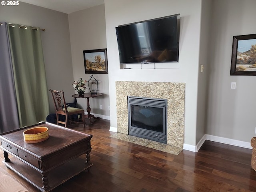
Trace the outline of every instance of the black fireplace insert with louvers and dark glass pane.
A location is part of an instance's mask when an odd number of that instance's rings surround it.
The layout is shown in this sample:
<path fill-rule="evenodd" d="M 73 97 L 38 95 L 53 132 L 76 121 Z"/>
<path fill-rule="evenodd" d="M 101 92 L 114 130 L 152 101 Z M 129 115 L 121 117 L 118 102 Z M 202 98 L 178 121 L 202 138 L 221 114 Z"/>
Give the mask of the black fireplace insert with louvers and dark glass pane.
<path fill-rule="evenodd" d="M 128 134 L 167 143 L 167 100 L 128 96 Z"/>

